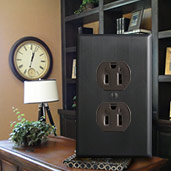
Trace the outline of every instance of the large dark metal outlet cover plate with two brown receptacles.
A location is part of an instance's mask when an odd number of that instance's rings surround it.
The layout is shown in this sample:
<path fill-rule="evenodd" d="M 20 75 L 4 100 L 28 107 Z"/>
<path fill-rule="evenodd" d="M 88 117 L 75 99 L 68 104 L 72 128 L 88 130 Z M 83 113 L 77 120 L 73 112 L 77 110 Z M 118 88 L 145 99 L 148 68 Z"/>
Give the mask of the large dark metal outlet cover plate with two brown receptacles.
<path fill-rule="evenodd" d="M 151 74 L 150 35 L 79 37 L 77 157 L 152 155 Z"/>

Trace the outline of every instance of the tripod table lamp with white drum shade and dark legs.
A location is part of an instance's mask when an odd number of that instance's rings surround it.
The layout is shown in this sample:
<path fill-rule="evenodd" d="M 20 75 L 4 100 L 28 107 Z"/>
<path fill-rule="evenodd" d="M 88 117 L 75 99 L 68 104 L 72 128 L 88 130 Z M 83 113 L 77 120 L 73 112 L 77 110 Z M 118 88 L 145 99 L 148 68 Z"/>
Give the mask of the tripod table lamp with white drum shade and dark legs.
<path fill-rule="evenodd" d="M 24 81 L 24 104 L 39 103 L 38 120 L 43 117 L 44 121 L 46 121 L 47 112 L 50 124 L 54 125 L 48 103 L 58 100 L 55 79 Z"/>

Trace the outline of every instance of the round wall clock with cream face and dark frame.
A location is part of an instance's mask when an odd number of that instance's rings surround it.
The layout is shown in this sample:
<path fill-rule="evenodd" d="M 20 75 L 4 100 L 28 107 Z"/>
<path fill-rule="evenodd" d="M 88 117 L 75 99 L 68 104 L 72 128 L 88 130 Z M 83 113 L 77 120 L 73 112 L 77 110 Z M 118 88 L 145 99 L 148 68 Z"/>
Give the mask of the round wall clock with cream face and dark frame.
<path fill-rule="evenodd" d="M 21 81 L 47 78 L 52 70 L 52 54 L 42 40 L 24 37 L 12 46 L 9 63 Z"/>

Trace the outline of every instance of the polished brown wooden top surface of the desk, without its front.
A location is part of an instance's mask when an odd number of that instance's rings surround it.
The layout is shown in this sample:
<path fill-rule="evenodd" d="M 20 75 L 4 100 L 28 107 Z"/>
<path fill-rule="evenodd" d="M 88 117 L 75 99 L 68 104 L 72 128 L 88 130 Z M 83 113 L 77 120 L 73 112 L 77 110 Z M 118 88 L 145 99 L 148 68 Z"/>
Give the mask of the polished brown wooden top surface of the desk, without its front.
<path fill-rule="evenodd" d="M 29 159 L 42 167 L 48 167 L 52 170 L 87 170 L 68 168 L 63 161 L 74 154 L 76 142 L 66 137 L 49 137 L 46 143 L 37 147 L 17 148 L 8 140 L 0 141 L 0 152 L 11 153 L 23 159 Z M 135 158 L 129 166 L 128 171 L 150 171 L 158 169 L 167 163 L 167 159 L 159 157 Z M 90 170 L 91 171 L 91 170 Z"/>

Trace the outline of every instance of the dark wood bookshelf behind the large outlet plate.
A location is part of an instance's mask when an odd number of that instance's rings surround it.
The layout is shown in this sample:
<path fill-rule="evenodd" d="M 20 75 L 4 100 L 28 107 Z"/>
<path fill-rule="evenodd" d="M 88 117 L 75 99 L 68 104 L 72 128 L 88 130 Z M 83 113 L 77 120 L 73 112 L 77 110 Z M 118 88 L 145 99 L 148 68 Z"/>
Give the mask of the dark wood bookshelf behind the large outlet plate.
<path fill-rule="evenodd" d="M 125 14 L 141 9 L 151 8 L 152 19 L 152 53 L 153 53 L 153 155 L 170 157 L 171 130 L 169 113 L 171 101 L 171 76 L 165 73 L 166 48 L 171 47 L 171 14 L 170 0 L 99 0 L 98 7 L 89 11 L 74 15 L 82 0 L 61 0 L 62 21 L 62 65 L 63 65 L 63 109 L 59 111 L 61 126 L 65 131 L 62 135 L 71 137 L 68 130 L 75 128 L 76 112 L 73 111 L 73 97 L 76 95 L 76 80 L 71 79 L 72 62 L 77 59 L 78 27 L 84 24 L 98 21 L 99 34 L 116 34 L 116 19 Z M 71 114 L 72 113 L 72 114 Z M 66 122 L 69 115 L 74 119 Z M 64 120 L 64 121 L 63 121 Z M 68 120 L 67 120 L 68 121 Z M 74 124 L 73 125 L 71 125 Z M 161 129 L 165 127 L 164 129 Z M 68 130 L 66 130 L 66 128 Z M 68 132 L 67 132 L 68 131 Z M 67 132 L 65 134 L 65 132 Z M 75 131 L 76 132 L 76 131 Z M 73 134 L 72 134 L 73 137 Z M 167 147 L 167 149 L 166 149 Z"/>

